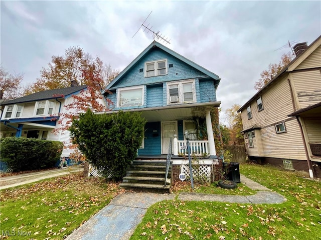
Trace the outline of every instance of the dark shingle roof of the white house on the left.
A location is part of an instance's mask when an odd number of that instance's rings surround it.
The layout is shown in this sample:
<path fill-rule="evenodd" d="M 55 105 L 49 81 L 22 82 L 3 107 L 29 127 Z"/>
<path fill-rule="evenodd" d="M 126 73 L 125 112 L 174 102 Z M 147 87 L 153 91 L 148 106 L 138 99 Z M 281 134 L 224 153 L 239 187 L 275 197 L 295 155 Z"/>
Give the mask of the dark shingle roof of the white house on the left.
<path fill-rule="evenodd" d="M 81 86 L 71 86 L 71 87 L 58 88 L 58 89 L 52 89 L 52 90 L 46 90 L 46 91 L 39 91 L 39 92 L 30 94 L 27 96 L 22 96 L 13 100 L 4 101 L 1 104 L 8 105 L 8 104 L 22 103 L 22 102 L 29 102 L 29 101 L 63 98 L 60 95 L 66 96 L 74 92 L 80 91 L 86 87 L 87 85 L 81 85 Z"/>

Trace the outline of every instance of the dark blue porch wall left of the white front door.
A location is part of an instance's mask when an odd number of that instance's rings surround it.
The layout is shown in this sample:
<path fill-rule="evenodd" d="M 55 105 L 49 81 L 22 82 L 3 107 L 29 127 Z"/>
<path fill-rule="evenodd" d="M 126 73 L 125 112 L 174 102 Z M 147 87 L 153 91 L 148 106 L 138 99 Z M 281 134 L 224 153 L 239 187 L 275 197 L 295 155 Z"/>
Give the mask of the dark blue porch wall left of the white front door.
<path fill-rule="evenodd" d="M 161 122 L 147 122 L 145 125 L 144 148 L 138 149 L 138 155 L 160 155 Z"/>

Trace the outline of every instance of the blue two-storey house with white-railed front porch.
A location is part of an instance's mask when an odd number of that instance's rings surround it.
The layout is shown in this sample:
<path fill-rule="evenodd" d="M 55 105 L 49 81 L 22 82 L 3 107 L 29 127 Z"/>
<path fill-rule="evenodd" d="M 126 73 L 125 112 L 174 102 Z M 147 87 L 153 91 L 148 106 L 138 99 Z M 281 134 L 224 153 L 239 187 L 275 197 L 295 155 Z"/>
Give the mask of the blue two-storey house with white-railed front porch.
<path fill-rule="evenodd" d="M 186 154 L 187 136 L 191 151 L 207 156 L 211 165 L 217 156 L 210 111 L 221 103 L 216 99 L 219 82 L 215 73 L 153 41 L 104 94 L 113 102 L 111 112 L 140 111 L 147 120 L 138 157 L 168 154 L 172 141 L 173 164 L 182 165 L 184 160 L 175 156 Z"/>

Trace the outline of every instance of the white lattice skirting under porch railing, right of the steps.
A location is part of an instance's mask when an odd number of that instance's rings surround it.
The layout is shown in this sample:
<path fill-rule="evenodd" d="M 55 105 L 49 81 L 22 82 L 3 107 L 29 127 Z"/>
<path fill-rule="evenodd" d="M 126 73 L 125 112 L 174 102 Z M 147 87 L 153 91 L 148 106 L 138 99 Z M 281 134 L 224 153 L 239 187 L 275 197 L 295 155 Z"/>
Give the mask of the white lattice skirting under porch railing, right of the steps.
<path fill-rule="evenodd" d="M 211 165 L 192 165 L 193 178 L 198 181 L 211 181 Z M 181 165 L 181 172 L 186 175 L 187 179 L 191 179 L 189 165 Z"/>

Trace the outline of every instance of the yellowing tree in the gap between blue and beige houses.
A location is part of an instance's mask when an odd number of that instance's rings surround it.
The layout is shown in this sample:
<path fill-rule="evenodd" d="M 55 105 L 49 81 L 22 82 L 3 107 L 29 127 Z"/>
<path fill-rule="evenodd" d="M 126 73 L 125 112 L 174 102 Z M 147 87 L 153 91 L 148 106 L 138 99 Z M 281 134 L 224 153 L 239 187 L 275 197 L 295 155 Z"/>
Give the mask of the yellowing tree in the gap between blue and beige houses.
<path fill-rule="evenodd" d="M 241 112 L 237 112 L 240 107 L 240 104 L 233 104 L 232 107 L 226 109 L 230 129 L 230 144 L 244 144 L 244 137 L 241 132 L 243 129 Z"/>

